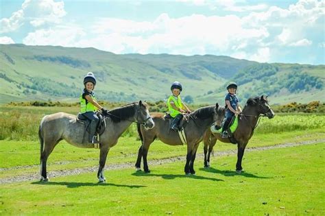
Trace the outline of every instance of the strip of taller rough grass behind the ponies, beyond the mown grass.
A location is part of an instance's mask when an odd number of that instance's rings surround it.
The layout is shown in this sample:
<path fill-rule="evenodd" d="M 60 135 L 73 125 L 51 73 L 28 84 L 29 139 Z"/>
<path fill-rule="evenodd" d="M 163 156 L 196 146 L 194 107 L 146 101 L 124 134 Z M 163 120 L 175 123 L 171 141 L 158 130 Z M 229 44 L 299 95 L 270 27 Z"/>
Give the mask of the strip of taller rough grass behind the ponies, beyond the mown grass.
<path fill-rule="evenodd" d="M 67 110 L 65 110 L 67 109 Z M 0 140 L 37 141 L 38 126 L 44 115 L 53 112 L 77 113 L 71 108 L 0 108 Z M 262 134 L 298 130 L 325 130 L 325 115 L 276 115 L 274 119 L 262 118 L 256 132 Z M 138 136 L 136 124 L 132 124 L 122 136 Z"/>

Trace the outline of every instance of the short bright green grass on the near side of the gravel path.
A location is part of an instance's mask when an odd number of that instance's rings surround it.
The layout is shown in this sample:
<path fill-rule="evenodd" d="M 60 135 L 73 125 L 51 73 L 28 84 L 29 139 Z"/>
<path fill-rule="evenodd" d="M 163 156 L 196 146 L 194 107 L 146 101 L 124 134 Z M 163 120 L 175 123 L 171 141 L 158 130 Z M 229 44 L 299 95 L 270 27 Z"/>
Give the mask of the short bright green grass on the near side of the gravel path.
<path fill-rule="evenodd" d="M 183 163 L 156 165 L 152 173 L 110 171 L 0 186 L 1 215 L 324 215 L 325 143 L 245 154 L 237 175 L 235 156 L 180 173 Z M 202 163 L 202 160 L 200 161 Z"/>

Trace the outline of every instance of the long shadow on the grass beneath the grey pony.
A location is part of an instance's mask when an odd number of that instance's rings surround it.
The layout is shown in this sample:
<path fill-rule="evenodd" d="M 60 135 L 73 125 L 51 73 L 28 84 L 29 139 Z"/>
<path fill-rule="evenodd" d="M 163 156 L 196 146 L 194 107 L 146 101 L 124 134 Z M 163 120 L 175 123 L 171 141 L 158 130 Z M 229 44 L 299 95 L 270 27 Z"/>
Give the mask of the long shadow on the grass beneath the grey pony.
<path fill-rule="evenodd" d="M 45 185 L 64 185 L 68 188 L 75 188 L 75 187 L 83 187 L 83 186 L 112 186 L 112 187 L 128 187 L 130 189 L 133 188 L 141 188 L 147 187 L 143 185 L 127 185 L 127 184 L 112 184 L 112 183 L 91 183 L 91 182 L 32 182 L 32 184 L 45 184 Z"/>

